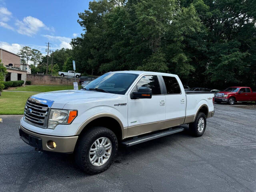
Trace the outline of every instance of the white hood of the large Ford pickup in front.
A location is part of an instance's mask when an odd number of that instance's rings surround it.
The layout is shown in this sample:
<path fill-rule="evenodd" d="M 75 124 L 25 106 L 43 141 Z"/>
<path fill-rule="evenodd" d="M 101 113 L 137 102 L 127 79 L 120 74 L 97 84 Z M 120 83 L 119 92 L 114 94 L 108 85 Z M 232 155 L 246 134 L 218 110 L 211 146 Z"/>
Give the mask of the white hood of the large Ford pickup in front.
<path fill-rule="evenodd" d="M 62 109 L 66 103 L 78 100 L 102 100 L 113 97 L 115 94 L 87 90 L 62 90 L 44 92 L 33 95 L 37 100 L 50 100 L 53 102 L 51 108 Z"/>

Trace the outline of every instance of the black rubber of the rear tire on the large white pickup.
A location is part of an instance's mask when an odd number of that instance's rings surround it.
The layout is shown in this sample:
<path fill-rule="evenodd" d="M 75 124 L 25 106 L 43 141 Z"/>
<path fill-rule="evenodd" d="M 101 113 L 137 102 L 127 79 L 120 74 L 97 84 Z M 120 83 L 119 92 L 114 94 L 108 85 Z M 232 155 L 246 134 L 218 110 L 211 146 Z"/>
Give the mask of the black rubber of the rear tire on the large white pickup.
<path fill-rule="evenodd" d="M 204 119 L 204 127 L 202 130 L 199 130 L 198 123 L 201 118 Z M 204 134 L 205 128 L 206 128 L 206 116 L 204 113 L 199 112 L 198 115 L 196 116 L 196 120 L 193 123 L 189 124 L 189 131 L 193 136 L 200 137 Z"/>

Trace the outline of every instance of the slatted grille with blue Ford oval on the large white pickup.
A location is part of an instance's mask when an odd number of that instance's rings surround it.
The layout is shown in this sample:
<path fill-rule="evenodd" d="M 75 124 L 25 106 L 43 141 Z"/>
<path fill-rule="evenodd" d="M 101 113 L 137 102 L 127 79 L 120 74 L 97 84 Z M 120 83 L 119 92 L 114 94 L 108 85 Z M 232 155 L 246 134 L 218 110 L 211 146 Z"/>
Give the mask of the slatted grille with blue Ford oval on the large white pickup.
<path fill-rule="evenodd" d="M 36 126 L 46 127 L 48 105 L 27 100 L 24 108 L 24 120 Z"/>

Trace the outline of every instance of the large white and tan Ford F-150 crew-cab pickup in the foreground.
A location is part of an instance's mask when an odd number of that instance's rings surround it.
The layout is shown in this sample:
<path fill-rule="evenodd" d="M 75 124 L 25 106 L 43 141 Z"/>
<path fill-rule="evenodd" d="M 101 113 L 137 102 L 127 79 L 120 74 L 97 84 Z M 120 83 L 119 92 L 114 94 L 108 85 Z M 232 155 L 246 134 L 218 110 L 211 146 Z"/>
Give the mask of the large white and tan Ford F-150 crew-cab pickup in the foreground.
<path fill-rule="evenodd" d="M 74 152 L 78 166 L 94 174 L 110 166 L 118 143 L 131 146 L 180 132 L 182 124 L 202 136 L 213 103 L 213 93 L 185 92 L 177 75 L 108 72 L 83 90 L 28 98 L 19 134 L 39 150 Z"/>

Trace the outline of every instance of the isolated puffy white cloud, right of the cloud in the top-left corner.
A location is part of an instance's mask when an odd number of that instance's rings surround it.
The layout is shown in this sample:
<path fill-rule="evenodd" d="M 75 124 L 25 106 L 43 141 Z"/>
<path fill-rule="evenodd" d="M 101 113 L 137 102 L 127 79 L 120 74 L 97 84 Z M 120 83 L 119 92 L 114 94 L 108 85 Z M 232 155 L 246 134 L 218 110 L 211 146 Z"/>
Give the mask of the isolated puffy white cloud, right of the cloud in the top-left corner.
<path fill-rule="evenodd" d="M 36 34 L 40 28 L 49 30 L 49 28 L 46 27 L 46 25 L 41 20 L 32 16 L 25 17 L 22 21 L 17 20 L 15 24 L 18 26 L 18 33 L 27 36 Z"/>

